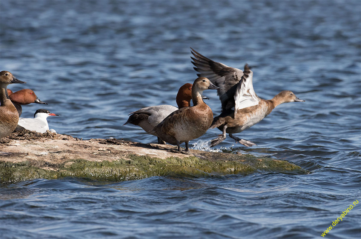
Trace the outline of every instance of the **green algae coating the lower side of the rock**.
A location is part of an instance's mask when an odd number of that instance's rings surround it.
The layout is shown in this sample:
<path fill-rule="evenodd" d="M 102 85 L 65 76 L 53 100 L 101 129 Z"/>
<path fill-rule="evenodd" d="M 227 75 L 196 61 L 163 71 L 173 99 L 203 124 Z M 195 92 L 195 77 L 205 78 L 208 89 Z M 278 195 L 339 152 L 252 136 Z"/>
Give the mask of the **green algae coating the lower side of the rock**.
<path fill-rule="evenodd" d="M 215 156 L 217 155 L 217 156 Z M 90 178 L 98 181 L 137 180 L 152 176 L 210 177 L 214 174 L 281 172 L 305 174 L 308 171 L 284 160 L 252 155 L 206 153 L 206 160 L 194 156 L 166 159 L 128 155 L 113 161 L 66 160 L 61 164 L 41 161 L 10 163 L 0 161 L 0 183 L 16 183 L 35 178 Z"/>

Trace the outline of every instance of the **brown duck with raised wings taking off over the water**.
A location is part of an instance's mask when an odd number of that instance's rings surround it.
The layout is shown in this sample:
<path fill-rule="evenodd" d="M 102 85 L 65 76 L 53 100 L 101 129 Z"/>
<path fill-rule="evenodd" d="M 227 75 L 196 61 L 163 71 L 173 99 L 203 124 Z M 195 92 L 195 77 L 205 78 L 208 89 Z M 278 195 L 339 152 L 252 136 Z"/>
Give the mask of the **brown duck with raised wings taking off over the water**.
<path fill-rule="evenodd" d="M 253 89 L 253 72 L 246 64 L 244 71 L 224 65 L 220 62 L 201 55 L 191 48 L 194 57 L 193 67 L 199 74 L 197 76 L 208 77 L 213 84 L 222 87 L 217 94 L 222 104 L 222 112 L 214 117 L 210 129 L 218 128 L 222 131 L 217 138 L 211 140 L 210 147 L 214 147 L 226 139 L 226 133 L 236 143 L 244 146 L 256 145 L 252 141 L 244 140 L 234 136 L 245 129 L 257 124 L 271 111 L 282 103 L 305 102 L 299 99 L 290 90 L 283 90 L 272 99 L 261 99 Z"/>

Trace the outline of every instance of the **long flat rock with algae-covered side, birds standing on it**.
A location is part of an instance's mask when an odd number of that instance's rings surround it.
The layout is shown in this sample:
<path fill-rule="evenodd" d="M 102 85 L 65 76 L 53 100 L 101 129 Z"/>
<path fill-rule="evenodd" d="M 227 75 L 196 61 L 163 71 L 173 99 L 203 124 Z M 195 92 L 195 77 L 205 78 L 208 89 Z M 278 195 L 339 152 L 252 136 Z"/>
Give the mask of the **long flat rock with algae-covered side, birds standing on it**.
<path fill-rule="evenodd" d="M 34 178 L 83 177 L 102 181 L 151 176 L 209 177 L 254 172 L 308 173 L 284 160 L 191 150 L 206 159 L 169 151 L 170 145 L 116 139 L 82 141 L 71 136 L 27 130 L 0 140 L 0 182 Z"/>

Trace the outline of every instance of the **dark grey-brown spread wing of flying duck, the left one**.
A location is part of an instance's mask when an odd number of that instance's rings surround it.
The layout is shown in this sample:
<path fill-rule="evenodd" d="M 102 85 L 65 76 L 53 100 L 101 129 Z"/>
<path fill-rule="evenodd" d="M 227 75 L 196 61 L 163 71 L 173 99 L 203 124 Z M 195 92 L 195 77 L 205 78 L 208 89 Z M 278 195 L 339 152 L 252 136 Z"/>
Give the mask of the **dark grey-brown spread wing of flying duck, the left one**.
<path fill-rule="evenodd" d="M 223 63 L 212 61 L 211 59 L 201 55 L 191 48 L 191 53 L 194 57 L 192 58 L 192 63 L 196 67 L 193 67 L 199 74 L 197 76 L 202 76 L 208 78 L 218 87 L 221 87 L 221 90 L 217 90 L 217 94 L 222 103 L 222 112 L 229 111 L 232 107 L 235 106 L 234 94 L 238 83 L 241 81 L 243 76 L 243 71 L 238 68 L 233 68 L 226 66 Z"/>

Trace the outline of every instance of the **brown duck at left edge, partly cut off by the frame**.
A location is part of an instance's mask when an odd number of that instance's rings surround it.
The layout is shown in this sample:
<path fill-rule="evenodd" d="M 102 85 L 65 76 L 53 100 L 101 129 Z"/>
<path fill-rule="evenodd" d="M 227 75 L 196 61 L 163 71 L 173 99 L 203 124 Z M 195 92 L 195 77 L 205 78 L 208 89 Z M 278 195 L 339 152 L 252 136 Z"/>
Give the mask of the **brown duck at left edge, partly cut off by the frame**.
<path fill-rule="evenodd" d="M 0 138 L 11 134 L 18 124 L 19 114 L 11 103 L 7 86 L 13 83 L 26 83 L 16 79 L 9 71 L 0 72 Z"/>

